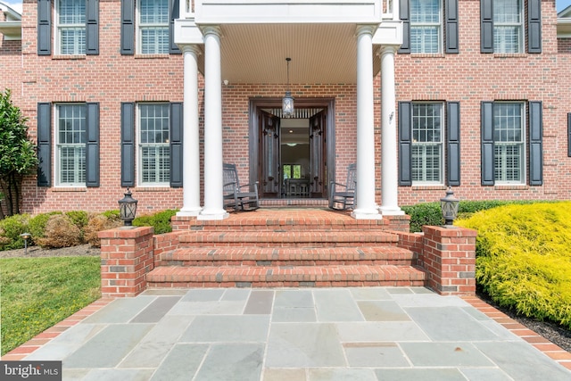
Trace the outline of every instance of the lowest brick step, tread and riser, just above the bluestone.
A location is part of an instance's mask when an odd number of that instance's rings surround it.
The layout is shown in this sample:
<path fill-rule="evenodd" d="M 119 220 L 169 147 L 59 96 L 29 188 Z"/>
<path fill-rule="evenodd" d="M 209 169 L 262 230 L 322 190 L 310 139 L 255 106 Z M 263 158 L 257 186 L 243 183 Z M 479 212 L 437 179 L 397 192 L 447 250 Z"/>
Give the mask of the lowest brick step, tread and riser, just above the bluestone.
<path fill-rule="evenodd" d="M 149 287 L 424 286 L 424 270 L 412 266 L 179 267 L 146 275 Z"/>

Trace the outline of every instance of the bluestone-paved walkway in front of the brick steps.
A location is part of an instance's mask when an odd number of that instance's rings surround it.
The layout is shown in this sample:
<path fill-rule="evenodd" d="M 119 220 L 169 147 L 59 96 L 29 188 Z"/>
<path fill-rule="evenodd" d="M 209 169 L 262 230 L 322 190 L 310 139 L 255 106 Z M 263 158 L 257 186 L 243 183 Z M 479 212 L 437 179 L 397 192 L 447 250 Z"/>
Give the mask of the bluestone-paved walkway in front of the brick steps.
<path fill-rule="evenodd" d="M 24 360 L 65 380 L 550 381 L 571 371 L 423 287 L 147 290 Z"/>

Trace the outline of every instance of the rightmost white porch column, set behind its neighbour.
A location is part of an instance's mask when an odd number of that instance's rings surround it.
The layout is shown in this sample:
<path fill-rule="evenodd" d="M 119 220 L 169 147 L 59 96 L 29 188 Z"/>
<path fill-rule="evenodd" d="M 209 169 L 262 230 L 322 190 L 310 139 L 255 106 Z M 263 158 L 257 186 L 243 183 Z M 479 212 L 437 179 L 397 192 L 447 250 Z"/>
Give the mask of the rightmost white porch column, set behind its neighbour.
<path fill-rule="evenodd" d="M 394 110 L 394 53 L 396 46 L 381 49 L 381 207 L 384 215 L 401 215 L 398 203 L 398 158 Z"/>

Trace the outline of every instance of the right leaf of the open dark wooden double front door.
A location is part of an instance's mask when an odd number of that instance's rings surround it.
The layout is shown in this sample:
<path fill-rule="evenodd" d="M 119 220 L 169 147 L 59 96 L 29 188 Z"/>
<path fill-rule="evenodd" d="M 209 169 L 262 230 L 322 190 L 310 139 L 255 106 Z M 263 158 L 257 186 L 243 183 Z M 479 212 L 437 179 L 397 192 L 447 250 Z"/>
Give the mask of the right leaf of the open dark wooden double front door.
<path fill-rule="evenodd" d="M 325 197 L 327 192 L 326 111 L 310 118 L 311 197 Z"/>

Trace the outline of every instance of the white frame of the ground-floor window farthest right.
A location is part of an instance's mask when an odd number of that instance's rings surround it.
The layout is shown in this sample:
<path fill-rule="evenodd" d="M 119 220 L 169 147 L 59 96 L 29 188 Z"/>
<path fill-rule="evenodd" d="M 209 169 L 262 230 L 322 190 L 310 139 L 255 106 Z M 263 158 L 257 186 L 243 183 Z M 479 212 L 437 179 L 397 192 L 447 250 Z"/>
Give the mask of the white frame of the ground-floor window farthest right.
<path fill-rule="evenodd" d="M 500 110 L 502 104 L 512 104 L 519 106 L 519 136 L 520 140 L 513 138 L 499 138 L 499 135 L 508 136 L 509 128 L 500 128 L 501 123 L 497 120 L 496 112 Z M 525 103 L 523 102 L 495 102 L 493 105 L 493 178 L 496 185 L 524 185 L 526 181 L 526 153 L 525 153 Z M 509 118 L 509 115 L 502 115 L 502 118 Z M 509 123 L 509 120 L 508 120 Z M 513 123 L 512 123 L 513 124 Z M 513 128 L 511 128 L 513 130 Z M 503 141 L 502 141 L 503 140 Z M 508 178 L 509 164 L 509 147 L 517 146 L 519 148 L 519 168 L 520 178 L 517 180 Z M 500 168 L 499 168 L 500 167 Z M 515 167 L 512 167 L 515 168 Z M 501 172 L 500 174 L 498 172 Z M 500 175 L 500 176 L 498 176 Z"/>

